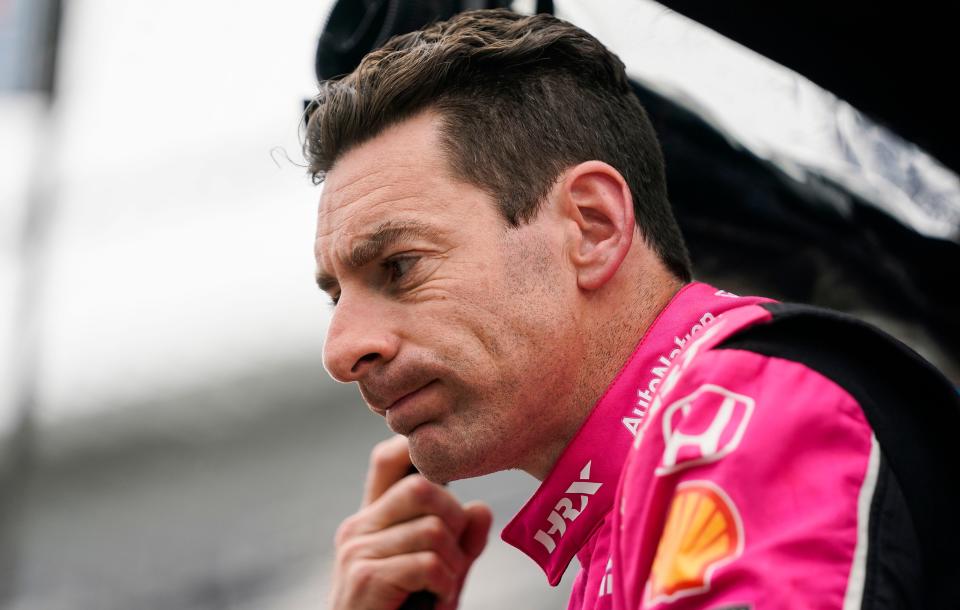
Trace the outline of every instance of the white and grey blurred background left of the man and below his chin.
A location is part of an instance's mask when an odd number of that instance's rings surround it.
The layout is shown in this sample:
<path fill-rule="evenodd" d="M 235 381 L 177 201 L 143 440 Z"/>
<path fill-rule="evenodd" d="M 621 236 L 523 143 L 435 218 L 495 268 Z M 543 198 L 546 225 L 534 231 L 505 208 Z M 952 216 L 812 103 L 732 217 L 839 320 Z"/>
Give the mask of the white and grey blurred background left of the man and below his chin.
<path fill-rule="evenodd" d="M 321 366 L 298 127 L 329 5 L 65 2 L 48 106 L 16 79 L 39 5 L 0 1 L 0 607 L 324 606 L 386 435 Z M 565 605 L 574 570 L 497 539 L 533 487 L 454 487 L 497 513 L 462 607 Z"/>

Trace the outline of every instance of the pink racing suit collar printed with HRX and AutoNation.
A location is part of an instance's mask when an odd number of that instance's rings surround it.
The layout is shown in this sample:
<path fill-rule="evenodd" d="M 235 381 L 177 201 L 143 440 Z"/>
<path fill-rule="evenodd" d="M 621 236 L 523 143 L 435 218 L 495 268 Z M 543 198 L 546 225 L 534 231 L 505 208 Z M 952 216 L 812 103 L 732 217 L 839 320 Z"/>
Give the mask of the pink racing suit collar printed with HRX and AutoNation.
<path fill-rule="evenodd" d="M 553 586 L 610 512 L 634 435 L 680 348 L 721 312 L 754 299 L 687 284 L 664 307 L 553 469 L 500 536 Z"/>

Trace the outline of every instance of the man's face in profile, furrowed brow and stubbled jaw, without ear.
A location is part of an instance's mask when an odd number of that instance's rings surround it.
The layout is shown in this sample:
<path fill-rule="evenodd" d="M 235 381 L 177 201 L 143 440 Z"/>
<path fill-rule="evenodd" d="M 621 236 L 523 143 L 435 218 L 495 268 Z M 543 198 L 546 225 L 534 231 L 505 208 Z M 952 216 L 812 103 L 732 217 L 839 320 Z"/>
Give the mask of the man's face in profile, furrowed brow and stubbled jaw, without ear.
<path fill-rule="evenodd" d="M 580 354 L 562 219 L 510 227 L 452 177 L 437 124 L 418 115 L 338 160 L 316 258 L 337 303 L 327 370 L 449 481 L 536 461 L 569 425 Z"/>

